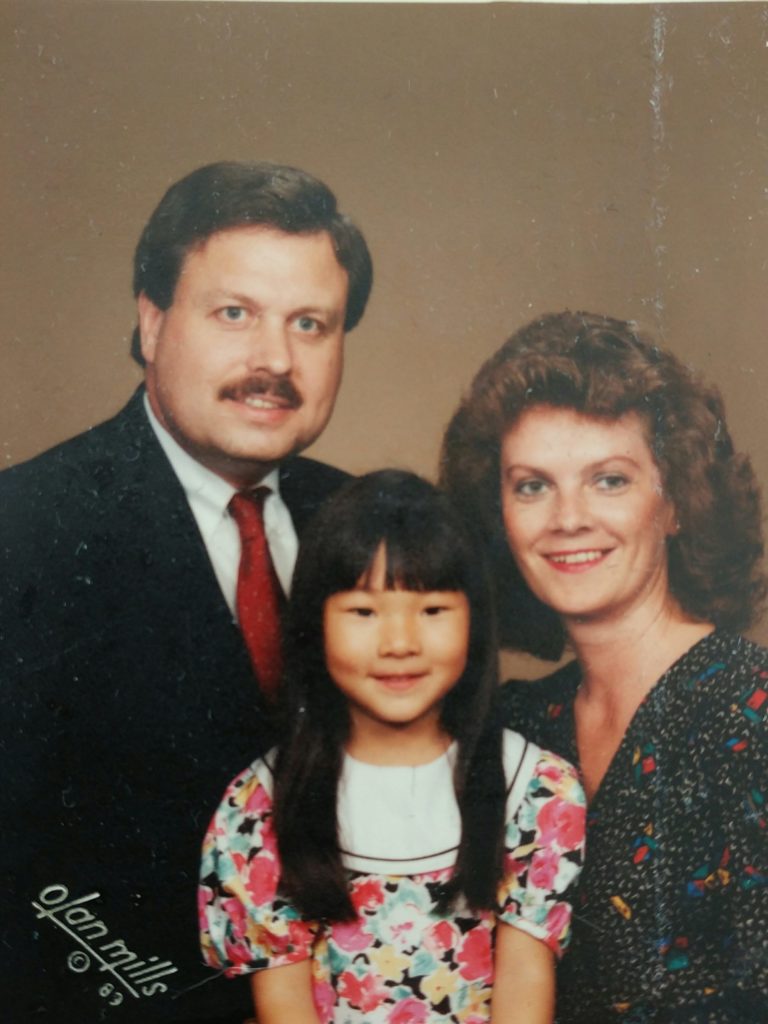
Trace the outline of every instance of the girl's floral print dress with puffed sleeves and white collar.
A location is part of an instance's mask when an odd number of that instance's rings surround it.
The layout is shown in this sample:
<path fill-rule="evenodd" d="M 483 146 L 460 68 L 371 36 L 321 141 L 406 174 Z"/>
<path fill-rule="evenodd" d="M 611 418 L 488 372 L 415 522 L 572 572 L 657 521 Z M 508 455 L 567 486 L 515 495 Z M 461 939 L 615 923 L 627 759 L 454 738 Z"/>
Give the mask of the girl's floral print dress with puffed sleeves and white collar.
<path fill-rule="evenodd" d="M 345 759 L 339 829 L 357 920 L 303 921 L 279 893 L 269 755 L 229 785 L 206 836 L 200 913 L 207 963 L 229 976 L 312 959 L 322 1024 L 438 1024 L 489 1020 L 496 921 L 559 954 L 568 938 L 565 892 L 584 844 L 584 792 L 561 758 L 505 733 L 506 873 L 499 906 L 440 914 L 461 823 L 455 749 L 418 768 Z"/>

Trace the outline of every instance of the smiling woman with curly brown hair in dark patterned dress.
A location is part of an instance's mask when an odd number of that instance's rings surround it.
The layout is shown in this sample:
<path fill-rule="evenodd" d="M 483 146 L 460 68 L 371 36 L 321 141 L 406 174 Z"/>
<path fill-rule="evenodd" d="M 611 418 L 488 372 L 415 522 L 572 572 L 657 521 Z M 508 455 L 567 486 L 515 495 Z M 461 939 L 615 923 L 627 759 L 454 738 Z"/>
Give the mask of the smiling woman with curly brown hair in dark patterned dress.
<path fill-rule="evenodd" d="M 575 654 L 505 687 L 589 799 L 558 1020 L 768 1021 L 768 651 L 735 632 L 760 500 L 717 391 L 630 324 L 546 316 L 482 367 L 442 465 L 506 645 Z"/>

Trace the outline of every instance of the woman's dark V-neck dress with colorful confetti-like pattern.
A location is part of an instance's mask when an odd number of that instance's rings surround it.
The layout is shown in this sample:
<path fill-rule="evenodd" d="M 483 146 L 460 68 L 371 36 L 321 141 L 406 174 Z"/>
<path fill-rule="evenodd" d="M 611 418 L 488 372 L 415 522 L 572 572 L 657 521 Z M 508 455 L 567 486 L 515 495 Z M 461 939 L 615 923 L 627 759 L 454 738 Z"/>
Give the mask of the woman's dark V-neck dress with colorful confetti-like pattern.
<path fill-rule="evenodd" d="M 503 688 L 574 764 L 575 663 Z M 592 800 L 559 1024 L 768 1022 L 768 650 L 714 633 L 655 684 Z"/>

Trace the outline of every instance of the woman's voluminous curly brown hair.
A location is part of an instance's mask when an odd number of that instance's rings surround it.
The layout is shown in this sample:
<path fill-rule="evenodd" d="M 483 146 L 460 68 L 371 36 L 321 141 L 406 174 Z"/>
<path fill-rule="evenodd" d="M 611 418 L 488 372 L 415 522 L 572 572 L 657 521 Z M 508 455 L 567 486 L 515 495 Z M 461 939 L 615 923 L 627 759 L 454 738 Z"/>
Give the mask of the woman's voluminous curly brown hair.
<path fill-rule="evenodd" d="M 502 522 L 502 439 L 541 404 L 642 417 L 680 526 L 669 539 L 672 593 L 721 629 L 750 626 L 768 590 L 760 489 L 733 449 L 720 393 L 635 325 L 562 312 L 522 328 L 481 367 L 443 439 L 441 484 L 489 549 L 504 646 L 556 658 L 565 643 L 559 617 L 518 572 Z"/>

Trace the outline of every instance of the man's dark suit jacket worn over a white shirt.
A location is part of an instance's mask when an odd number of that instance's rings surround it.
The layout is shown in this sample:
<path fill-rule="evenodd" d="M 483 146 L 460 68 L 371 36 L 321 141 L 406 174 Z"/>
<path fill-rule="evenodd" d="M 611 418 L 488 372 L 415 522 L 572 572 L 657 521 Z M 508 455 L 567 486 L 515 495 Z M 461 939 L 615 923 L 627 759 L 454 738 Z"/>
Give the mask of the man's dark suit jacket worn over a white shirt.
<path fill-rule="evenodd" d="M 344 479 L 283 466 L 299 534 Z M 0 559 L 3 1021 L 242 1020 L 198 949 L 200 843 L 271 737 L 141 391 L 0 474 Z"/>

